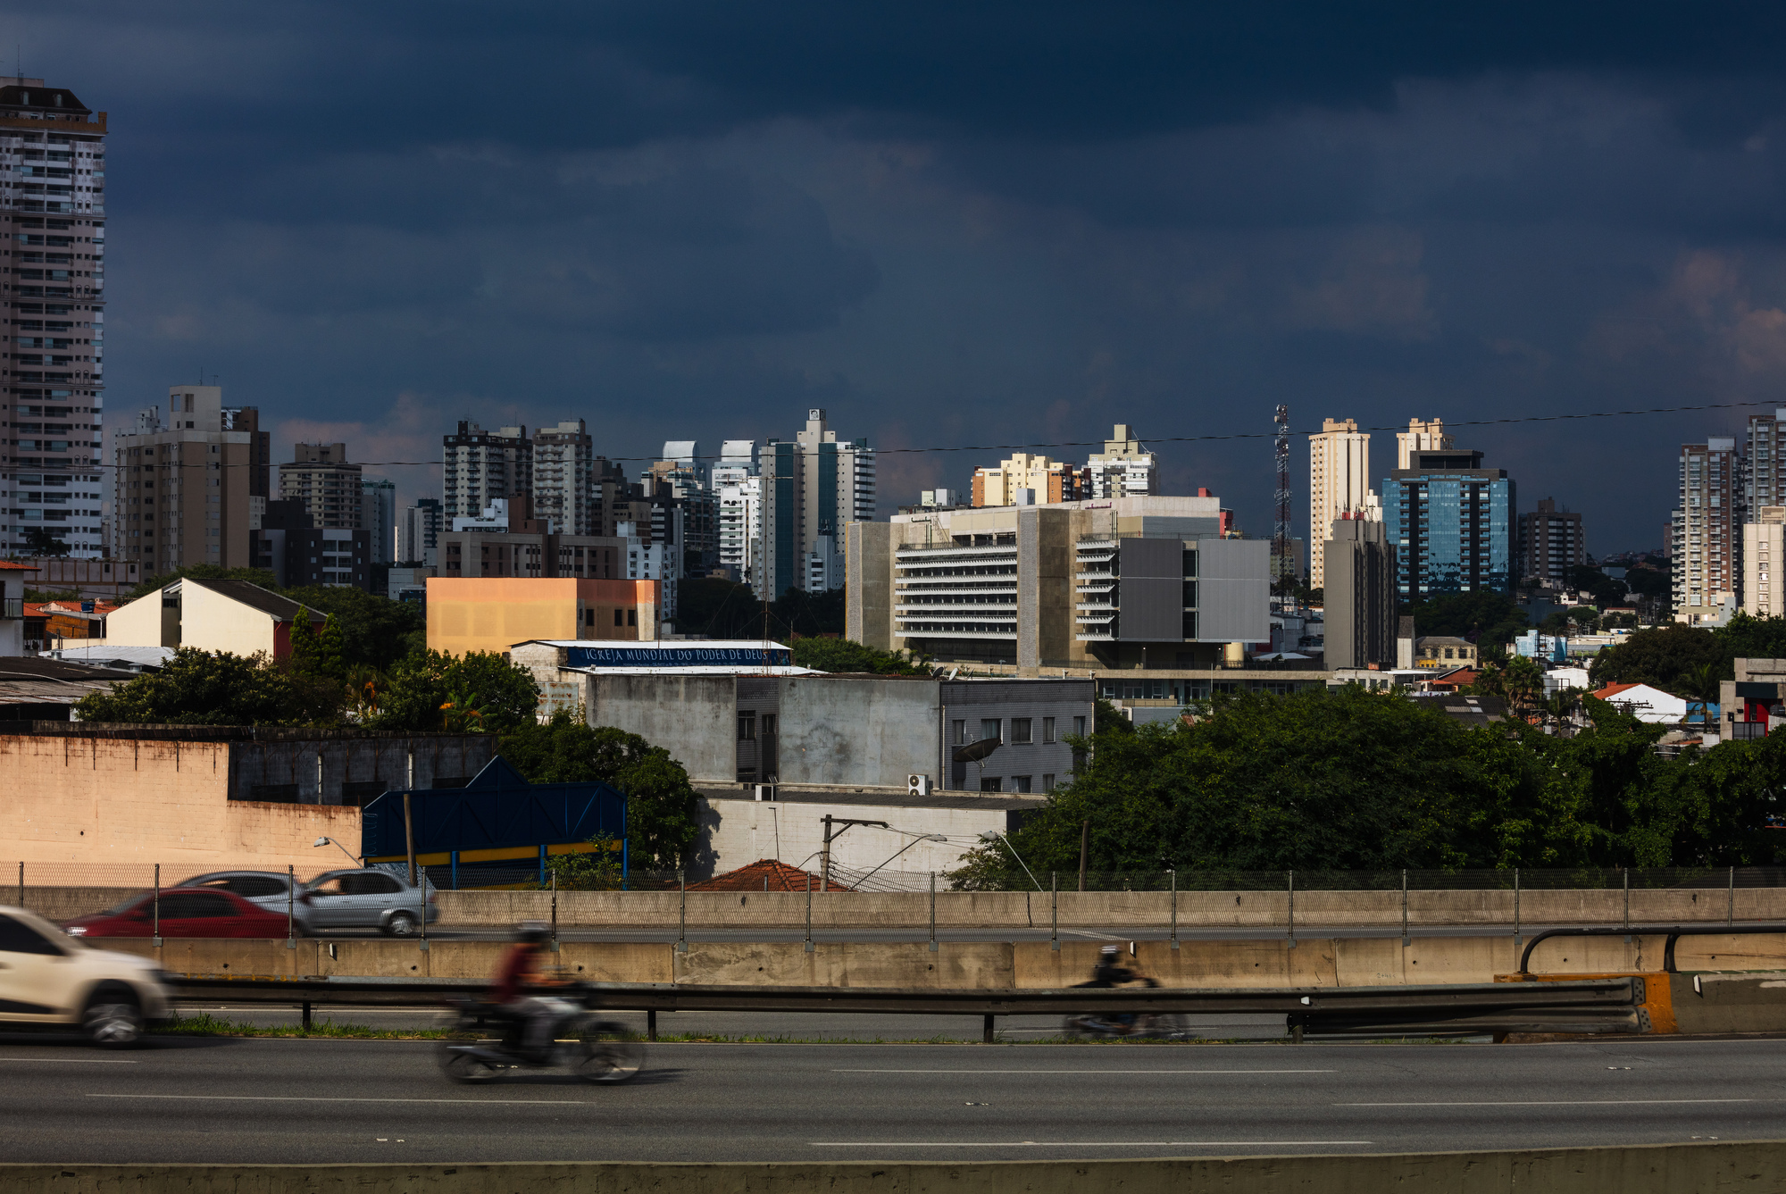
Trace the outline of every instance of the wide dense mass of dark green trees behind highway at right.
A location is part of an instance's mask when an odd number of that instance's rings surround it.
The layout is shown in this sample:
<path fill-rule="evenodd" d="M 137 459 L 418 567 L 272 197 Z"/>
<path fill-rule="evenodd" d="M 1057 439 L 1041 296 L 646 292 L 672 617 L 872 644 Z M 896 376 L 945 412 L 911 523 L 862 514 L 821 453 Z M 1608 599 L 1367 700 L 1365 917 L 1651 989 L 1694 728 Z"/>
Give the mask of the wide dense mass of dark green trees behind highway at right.
<path fill-rule="evenodd" d="M 1073 870 L 1397 870 L 1772 862 L 1786 735 L 1665 760 L 1661 727 L 1586 701 L 1573 738 L 1463 726 L 1359 686 L 1223 695 L 1195 726 L 1100 727 L 1070 783 L 1009 840 Z M 1025 883 L 1004 844 L 957 887 Z"/>

